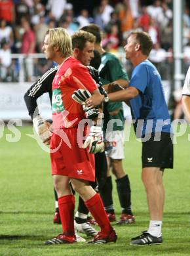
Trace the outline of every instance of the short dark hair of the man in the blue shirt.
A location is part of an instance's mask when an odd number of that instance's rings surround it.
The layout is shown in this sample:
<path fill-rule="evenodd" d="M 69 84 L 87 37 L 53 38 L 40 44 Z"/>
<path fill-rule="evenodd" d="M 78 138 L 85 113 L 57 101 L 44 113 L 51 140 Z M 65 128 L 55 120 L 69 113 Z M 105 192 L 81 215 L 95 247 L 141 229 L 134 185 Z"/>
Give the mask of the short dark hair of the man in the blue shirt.
<path fill-rule="evenodd" d="M 153 41 L 150 35 L 146 32 L 131 32 L 128 37 L 130 37 L 130 35 L 136 35 L 136 41 L 140 43 L 142 53 L 149 56 L 151 49 L 153 49 Z"/>

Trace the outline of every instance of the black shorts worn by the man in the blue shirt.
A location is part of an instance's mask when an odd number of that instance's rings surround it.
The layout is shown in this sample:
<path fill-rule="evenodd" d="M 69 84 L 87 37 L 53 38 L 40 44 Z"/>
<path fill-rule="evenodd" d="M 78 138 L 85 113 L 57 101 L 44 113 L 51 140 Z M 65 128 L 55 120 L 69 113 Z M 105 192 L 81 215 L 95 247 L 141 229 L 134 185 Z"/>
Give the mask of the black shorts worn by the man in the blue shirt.
<path fill-rule="evenodd" d="M 159 141 L 155 141 L 155 135 L 158 136 L 158 133 L 153 133 L 149 140 L 142 142 L 142 167 L 173 169 L 174 147 L 172 135 L 164 132 L 159 133 L 161 137 Z"/>

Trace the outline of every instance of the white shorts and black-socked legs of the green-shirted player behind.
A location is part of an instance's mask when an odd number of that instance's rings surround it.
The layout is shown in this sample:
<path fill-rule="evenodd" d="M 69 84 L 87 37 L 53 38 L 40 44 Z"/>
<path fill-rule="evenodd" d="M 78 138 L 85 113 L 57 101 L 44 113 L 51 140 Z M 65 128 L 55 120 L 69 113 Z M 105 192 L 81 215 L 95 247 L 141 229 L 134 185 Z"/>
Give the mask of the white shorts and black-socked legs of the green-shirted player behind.
<path fill-rule="evenodd" d="M 121 205 L 121 217 L 117 224 L 134 223 L 135 218 L 131 209 L 131 189 L 128 175 L 123 169 L 124 139 L 123 131 L 111 131 L 105 134 L 105 151 L 107 155 L 107 179 L 104 187 L 100 190 L 105 211 L 109 221 L 116 221 L 113 206 L 113 184 L 111 173 L 115 176 L 117 194 Z"/>

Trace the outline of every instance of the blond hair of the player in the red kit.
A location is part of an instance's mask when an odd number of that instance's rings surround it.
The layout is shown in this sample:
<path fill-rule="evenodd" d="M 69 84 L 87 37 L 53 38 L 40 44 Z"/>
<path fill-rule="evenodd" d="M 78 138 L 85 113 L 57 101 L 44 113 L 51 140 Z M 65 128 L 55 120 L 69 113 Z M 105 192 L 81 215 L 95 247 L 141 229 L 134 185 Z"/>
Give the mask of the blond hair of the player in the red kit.
<path fill-rule="evenodd" d="M 72 42 L 67 30 L 64 28 L 50 28 L 46 35 L 49 35 L 52 47 L 59 47 L 60 52 L 65 57 L 71 56 L 73 53 Z"/>

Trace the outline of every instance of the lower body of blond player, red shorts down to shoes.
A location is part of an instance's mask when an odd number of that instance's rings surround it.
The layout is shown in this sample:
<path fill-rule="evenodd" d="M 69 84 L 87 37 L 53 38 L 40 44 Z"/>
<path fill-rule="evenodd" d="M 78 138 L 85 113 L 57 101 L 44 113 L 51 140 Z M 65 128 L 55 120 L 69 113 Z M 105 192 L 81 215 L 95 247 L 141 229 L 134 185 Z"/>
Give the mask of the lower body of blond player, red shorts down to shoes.
<path fill-rule="evenodd" d="M 102 200 L 89 184 L 89 181 L 95 179 L 94 155 L 78 146 L 77 127 L 64 129 L 64 133 L 67 135 L 71 147 L 67 146 L 66 142 L 56 133 L 53 133 L 50 140 L 52 175 L 54 188 L 58 194 L 62 234 L 48 240 L 45 244 L 76 242 L 74 229 L 75 197 L 71 192 L 70 181 L 73 189 L 79 193 L 88 211 L 101 229 L 90 243 L 116 242 L 117 235 L 109 223 Z M 56 151 L 55 148 L 57 148 Z M 69 156 L 69 160 L 66 156 Z"/>

